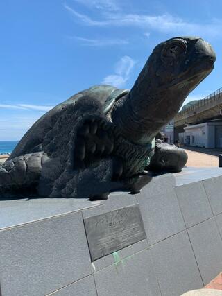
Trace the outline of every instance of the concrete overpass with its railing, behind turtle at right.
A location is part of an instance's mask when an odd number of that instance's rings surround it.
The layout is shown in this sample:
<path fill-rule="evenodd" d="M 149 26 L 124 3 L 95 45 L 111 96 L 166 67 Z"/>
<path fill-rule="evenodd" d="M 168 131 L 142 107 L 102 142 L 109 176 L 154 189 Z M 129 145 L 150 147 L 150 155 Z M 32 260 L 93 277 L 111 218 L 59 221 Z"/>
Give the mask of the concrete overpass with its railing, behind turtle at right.
<path fill-rule="evenodd" d="M 222 120 L 222 88 L 180 111 L 174 119 L 174 128 L 180 132 L 187 124 Z"/>

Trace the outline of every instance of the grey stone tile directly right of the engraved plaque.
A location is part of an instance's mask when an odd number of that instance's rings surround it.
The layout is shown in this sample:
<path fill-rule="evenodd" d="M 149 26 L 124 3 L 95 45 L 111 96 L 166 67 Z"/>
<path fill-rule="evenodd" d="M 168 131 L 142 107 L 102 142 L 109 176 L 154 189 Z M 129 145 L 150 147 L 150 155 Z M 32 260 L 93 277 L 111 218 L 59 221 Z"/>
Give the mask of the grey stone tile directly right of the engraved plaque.
<path fill-rule="evenodd" d="M 176 193 L 163 191 L 159 195 L 148 195 L 146 190 L 137 195 L 148 244 L 153 245 L 164 238 L 185 229 Z"/>

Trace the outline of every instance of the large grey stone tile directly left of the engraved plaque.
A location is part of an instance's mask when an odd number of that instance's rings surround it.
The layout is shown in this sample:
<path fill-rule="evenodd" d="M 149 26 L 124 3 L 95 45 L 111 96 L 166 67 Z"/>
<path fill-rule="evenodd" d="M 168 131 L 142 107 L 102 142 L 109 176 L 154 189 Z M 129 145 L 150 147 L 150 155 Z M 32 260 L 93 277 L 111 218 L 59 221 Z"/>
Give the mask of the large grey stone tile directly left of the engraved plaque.
<path fill-rule="evenodd" d="M 0 231 L 3 296 L 46 295 L 90 273 L 80 211 Z"/>

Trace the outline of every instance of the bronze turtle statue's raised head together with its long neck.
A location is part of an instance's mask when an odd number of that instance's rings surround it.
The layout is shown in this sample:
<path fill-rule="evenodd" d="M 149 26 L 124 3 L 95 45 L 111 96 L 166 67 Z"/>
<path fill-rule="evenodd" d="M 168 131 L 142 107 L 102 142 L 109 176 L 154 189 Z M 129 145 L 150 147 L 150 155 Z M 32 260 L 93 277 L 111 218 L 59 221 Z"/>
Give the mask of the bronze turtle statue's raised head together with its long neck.
<path fill-rule="evenodd" d="M 112 121 L 135 143 L 150 143 L 212 71 L 216 56 L 199 37 L 175 37 L 153 49 L 135 85 L 117 101 Z"/>

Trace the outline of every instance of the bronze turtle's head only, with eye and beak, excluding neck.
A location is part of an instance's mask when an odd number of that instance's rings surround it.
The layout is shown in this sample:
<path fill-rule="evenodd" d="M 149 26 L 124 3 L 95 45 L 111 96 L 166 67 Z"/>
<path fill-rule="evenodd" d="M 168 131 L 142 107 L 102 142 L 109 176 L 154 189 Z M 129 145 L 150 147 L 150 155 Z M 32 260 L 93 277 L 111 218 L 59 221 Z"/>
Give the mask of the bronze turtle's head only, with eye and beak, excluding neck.
<path fill-rule="evenodd" d="M 162 42 L 145 65 L 149 93 L 169 89 L 180 92 L 184 99 L 212 71 L 215 60 L 212 46 L 200 37 L 174 37 Z"/>

